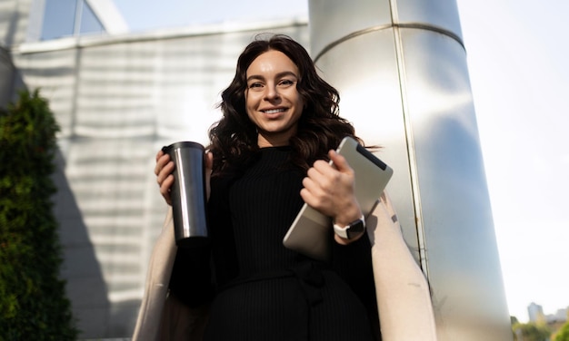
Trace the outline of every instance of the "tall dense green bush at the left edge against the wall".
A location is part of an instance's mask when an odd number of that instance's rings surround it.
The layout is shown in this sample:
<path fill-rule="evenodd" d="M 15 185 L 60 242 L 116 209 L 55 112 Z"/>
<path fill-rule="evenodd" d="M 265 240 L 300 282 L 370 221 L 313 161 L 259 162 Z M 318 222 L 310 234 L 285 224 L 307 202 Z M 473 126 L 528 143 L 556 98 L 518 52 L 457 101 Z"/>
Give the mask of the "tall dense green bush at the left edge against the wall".
<path fill-rule="evenodd" d="M 51 200 L 58 130 L 38 91 L 0 110 L 0 341 L 78 334 Z"/>

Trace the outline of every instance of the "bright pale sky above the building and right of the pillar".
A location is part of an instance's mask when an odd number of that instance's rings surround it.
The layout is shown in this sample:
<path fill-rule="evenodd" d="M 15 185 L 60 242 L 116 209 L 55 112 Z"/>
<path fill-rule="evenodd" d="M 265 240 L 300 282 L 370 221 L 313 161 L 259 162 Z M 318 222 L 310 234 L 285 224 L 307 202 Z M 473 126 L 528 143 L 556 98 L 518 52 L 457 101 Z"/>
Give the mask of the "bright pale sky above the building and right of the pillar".
<path fill-rule="evenodd" d="M 307 0 L 115 0 L 132 31 L 307 16 Z M 277 6 L 279 4 L 280 6 Z M 285 5 L 282 5 L 285 4 Z M 569 306 L 569 2 L 456 0 L 510 315 Z"/>

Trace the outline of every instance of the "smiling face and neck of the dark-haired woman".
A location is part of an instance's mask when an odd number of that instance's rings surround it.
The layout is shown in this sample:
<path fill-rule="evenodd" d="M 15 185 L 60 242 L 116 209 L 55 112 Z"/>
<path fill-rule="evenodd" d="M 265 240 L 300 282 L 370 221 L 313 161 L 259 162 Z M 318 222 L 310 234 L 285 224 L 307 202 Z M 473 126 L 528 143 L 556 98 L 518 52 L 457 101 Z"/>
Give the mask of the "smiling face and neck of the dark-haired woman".
<path fill-rule="evenodd" d="M 259 147 L 283 146 L 296 132 L 304 102 L 298 67 L 280 51 L 260 54 L 246 71 L 245 107 L 257 126 Z"/>

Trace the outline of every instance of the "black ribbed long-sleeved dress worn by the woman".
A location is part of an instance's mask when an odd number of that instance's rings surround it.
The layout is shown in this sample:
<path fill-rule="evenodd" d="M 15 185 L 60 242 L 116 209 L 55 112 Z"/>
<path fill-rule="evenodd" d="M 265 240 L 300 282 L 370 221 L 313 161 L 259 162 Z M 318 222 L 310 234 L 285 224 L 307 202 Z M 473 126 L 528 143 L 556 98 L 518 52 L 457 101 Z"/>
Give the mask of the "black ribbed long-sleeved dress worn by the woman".
<path fill-rule="evenodd" d="M 286 166 L 289 154 L 289 147 L 261 149 L 243 174 L 212 180 L 208 227 L 215 294 L 205 341 L 376 340 L 367 236 L 349 246 L 334 243 L 325 263 L 283 246 L 303 205 L 304 174 Z M 195 274 L 207 271 L 204 263 L 204 256 L 178 251 L 170 287 L 188 304 L 209 298 L 207 285 L 196 284 Z"/>

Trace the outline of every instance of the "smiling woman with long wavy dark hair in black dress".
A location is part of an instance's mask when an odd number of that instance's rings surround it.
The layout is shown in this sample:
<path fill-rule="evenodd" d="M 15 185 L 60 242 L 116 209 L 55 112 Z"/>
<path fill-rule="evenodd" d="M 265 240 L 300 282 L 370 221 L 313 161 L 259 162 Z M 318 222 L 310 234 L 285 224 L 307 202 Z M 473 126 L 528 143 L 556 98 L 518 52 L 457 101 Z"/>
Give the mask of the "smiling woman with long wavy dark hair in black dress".
<path fill-rule="evenodd" d="M 364 223 L 354 198 L 354 172 L 334 152 L 344 136 L 355 137 L 352 125 L 338 116 L 338 101 L 336 90 L 318 76 L 302 45 L 292 39 L 275 35 L 245 48 L 233 82 L 222 93 L 223 118 L 209 133 L 211 249 L 180 248 L 174 261 L 173 252 L 165 261 L 172 268 L 168 301 L 176 302 L 176 309 L 200 314 L 185 314 L 180 320 L 173 317 L 172 305 L 166 305 L 163 336 L 197 339 L 203 332 L 204 340 L 381 338 L 376 302 L 382 302 L 374 283 L 378 274 L 364 230 L 350 238 L 331 233 L 335 243 L 326 262 L 282 244 L 304 202 L 331 217 L 336 230 Z M 168 203 L 173 169 L 169 157 L 158 152 L 155 173 Z M 394 213 L 388 200 L 382 202 L 385 214 Z M 387 223 L 392 230 L 397 227 L 393 217 Z M 167 277 L 168 270 L 161 275 Z M 165 299 L 161 295 L 155 299 Z M 148 302 L 146 297 L 135 339 L 145 339 L 140 328 L 147 320 Z"/>

